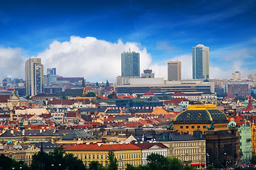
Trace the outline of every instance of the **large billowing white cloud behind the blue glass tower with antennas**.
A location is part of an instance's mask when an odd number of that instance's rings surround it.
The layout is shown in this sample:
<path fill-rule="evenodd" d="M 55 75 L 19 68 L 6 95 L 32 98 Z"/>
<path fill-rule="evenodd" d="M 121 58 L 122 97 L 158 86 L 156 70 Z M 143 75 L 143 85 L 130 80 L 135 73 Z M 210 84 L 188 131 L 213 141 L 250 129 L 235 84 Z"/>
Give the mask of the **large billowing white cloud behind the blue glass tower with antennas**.
<path fill-rule="evenodd" d="M 38 54 L 46 68 L 56 67 L 63 77 L 84 77 L 88 81 L 116 81 L 121 75 L 121 53 L 128 49 L 140 52 L 140 72 L 152 59 L 146 48 L 136 42 L 116 43 L 96 38 L 72 36 L 67 42 L 54 41 Z"/>

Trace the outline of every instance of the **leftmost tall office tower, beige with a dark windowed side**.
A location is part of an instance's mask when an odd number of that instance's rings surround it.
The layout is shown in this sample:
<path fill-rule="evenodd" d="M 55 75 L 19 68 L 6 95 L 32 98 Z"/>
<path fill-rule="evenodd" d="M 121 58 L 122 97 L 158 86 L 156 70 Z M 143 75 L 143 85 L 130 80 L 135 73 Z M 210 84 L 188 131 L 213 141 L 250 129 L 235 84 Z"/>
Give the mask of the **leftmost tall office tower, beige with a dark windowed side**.
<path fill-rule="evenodd" d="M 26 95 L 43 93 L 43 64 L 40 58 L 30 58 L 25 63 Z"/>

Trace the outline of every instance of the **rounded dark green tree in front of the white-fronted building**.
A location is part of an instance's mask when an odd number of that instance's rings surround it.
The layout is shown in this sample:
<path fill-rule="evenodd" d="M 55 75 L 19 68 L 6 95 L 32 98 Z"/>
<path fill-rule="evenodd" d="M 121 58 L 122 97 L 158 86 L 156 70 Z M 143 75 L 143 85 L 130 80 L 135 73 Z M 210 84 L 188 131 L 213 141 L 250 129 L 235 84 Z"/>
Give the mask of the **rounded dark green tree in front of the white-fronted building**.
<path fill-rule="evenodd" d="M 168 162 L 166 157 L 161 154 L 149 154 L 147 157 L 148 166 L 152 170 L 165 170 L 168 167 Z"/>

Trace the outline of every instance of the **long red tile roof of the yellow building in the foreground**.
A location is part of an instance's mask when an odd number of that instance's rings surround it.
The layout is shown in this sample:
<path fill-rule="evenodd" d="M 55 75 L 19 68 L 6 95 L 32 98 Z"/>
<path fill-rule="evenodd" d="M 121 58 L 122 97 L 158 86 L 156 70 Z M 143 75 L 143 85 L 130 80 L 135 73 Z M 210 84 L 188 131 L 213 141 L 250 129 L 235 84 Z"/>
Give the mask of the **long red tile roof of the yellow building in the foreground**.
<path fill-rule="evenodd" d="M 115 144 L 115 145 L 106 145 L 106 144 L 90 144 L 90 145 L 75 145 L 73 147 L 69 147 L 64 149 L 65 151 L 117 151 L 117 150 L 134 150 L 140 149 L 133 144 Z"/>

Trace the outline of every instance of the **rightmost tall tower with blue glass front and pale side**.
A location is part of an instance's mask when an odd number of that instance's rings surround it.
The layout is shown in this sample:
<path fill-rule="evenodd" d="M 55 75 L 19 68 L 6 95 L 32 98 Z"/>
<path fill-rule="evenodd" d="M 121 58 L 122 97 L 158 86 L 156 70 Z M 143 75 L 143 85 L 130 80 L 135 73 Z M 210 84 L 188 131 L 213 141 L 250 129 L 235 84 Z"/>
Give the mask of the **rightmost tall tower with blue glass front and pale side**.
<path fill-rule="evenodd" d="M 209 47 L 196 45 L 192 52 L 193 79 L 209 79 Z"/>

